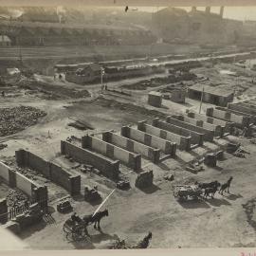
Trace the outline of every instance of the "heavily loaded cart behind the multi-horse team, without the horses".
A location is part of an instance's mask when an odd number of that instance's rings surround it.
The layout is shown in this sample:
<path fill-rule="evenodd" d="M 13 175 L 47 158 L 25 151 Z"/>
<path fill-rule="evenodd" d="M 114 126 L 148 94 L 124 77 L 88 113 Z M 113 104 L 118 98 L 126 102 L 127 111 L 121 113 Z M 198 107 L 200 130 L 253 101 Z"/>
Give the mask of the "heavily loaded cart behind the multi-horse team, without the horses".
<path fill-rule="evenodd" d="M 174 197 L 178 200 L 198 199 L 203 191 L 197 185 L 174 186 Z"/>

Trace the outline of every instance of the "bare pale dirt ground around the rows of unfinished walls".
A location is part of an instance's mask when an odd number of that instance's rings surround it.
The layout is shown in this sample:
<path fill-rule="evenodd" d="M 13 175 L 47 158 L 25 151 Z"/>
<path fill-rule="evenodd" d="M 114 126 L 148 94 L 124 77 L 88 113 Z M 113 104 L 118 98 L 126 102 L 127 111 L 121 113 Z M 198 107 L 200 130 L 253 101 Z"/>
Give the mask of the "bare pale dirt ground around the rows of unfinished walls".
<path fill-rule="evenodd" d="M 219 70 L 229 69 L 244 72 L 239 82 L 235 83 L 233 77 L 219 74 Z M 254 71 L 239 69 L 234 64 L 217 64 L 211 67 L 202 67 L 192 70 L 195 74 L 210 77 L 210 81 L 225 82 L 232 90 L 234 87 L 247 86 L 244 94 L 255 95 L 255 86 L 251 77 Z M 250 72 L 250 77 L 248 74 Z M 251 73 L 253 72 L 253 73 Z M 83 174 L 77 163 L 70 162 L 60 154 L 61 140 L 66 137 L 82 137 L 86 134 L 95 134 L 101 137 L 104 131 L 119 132 L 123 125 L 135 125 L 142 119 L 154 117 L 164 118 L 174 113 L 184 113 L 186 109 L 199 110 L 199 101 L 186 99 L 186 103 L 178 104 L 172 101 L 163 101 L 162 108 L 155 108 L 147 104 L 147 93 L 144 91 L 125 90 L 131 96 L 121 93 L 119 86 L 123 82 L 109 82 L 110 88 L 119 92 L 104 92 L 101 94 L 101 84 L 82 86 L 67 82 L 54 82 L 52 77 L 37 75 L 46 84 L 60 90 L 68 87 L 70 90 L 86 89 L 88 96 L 80 98 L 70 97 L 57 100 L 46 100 L 45 92 L 31 93 L 32 89 L 12 86 L 7 89 L 7 96 L 0 101 L 0 107 L 14 107 L 20 105 L 32 106 L 46 112 L 46 116 L 39 119 L 37 124 L 25 130 L 0 137 L 0 143 L 8 145 L 1 150 L 1 159 L 13 168 L 15 167 L 15 151 L 23 148 L 36 155 L 68 168 L 74 174 L 82 176 L 82 190 L 85 185 L 98 186 L 102 198 L 105 198 L 116 188 L 116 184 L 98 174 Z M 145 78 L 137 78 L 136 81 Z M 242 85 L 241 85 L 242 84 Z M 159 85 L 159 88 L 163 84 Z M 48 88 L 47 88 L 48 89 Z M 154 88 L 155 90 L 157 87 Z M 58 95 L 58 90 L 54 89 Z M 248 92 L 248 93 L 247 93 Z M 246 96 L 245 96 L 246 97 Z M 239 99 L 237 99 L 239 101 Z M 210 104 L 203 103 L 202 113 Z M 94 130 L 79 130 L 69 126 L 70 122 L 80 120 L 89 122 Z M 136 127 L 136 126 L 135 126 Z M 75 143 L 79 140 L 73 138 Z M 200 158 L 207 152 L 217 151 L 229 141 L 241 142 L 250 155 L 238 158 L 225 153 L 225 159 L 218 161 L 216 168 L 203 165 L 204 170 L 192 174 L 185 170 L 188 162 Z M 116 190 L 103 208 L 109 210 L 109 216 L 101 221 L 101 232 L 88 228 L 91 241 L 73 242 L 64 236 L 64 221 L 69 214 L 62 214 L 56 210 L 56 205 L 63 198 L 70 197 L 68 192 L 60 186 L 46 180 L 42 174 L 34 171 L 21 170 L 40 184 L 46 184 L 49 192 L 49 207 L 51 219 L 44 217 L 44 221 L 24 230 L 20 237 L 35 249 L 72 249 L 72 248 L 106 248 L 117 236 L 128 243 L 136 243 L 148 231 L 153 232 L 150 247 L 255 247 L 255 213 L 256 194 L 254 192 L 255 156 L 256 147 L 245 137 L 223 137 L 205 142 L 203 147 L 197 147 L 190 152 L 177 151 L 177 157 L 161 155 L 163 160 L 158 165 L 148 159 L 142 159 L 143 170 L 154 170 L 154 186 L 148 190 L 135 188 L 137 174 L 124 165 L 120 165 L 121 174 L 126 175 L 131 182 L 129 191 Z M 76 167 L 76 168 L 74 168 Z M 163 178 L 165 174 L 174 174 L 174 181 Z M 179 203 L 173 195 L 174 184 L 191 184 L 195 181 L 210 182 L 218 180 L 226 182 L 233 176 L 230 194 L 216 193 L 214 199 L 188 201 Z M 0 183 L 0 195 L 8 192 L 6 185 Z M 74 210 L 80 215 L 94 212 L 98 205 L 89 204 L 82 196 L 70 198 Z"/>

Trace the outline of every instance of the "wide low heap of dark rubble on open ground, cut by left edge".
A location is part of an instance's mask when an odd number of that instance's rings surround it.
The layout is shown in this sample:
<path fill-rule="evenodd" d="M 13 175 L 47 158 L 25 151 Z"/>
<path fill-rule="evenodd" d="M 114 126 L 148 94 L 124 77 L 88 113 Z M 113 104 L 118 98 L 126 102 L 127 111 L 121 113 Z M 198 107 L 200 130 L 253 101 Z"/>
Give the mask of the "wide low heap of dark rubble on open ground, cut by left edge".
<path fill-rule="evenodd" d="M 0 109 L 0 137 L 9 136 L 34 125 L 46 112 L 30 106 Z"/>

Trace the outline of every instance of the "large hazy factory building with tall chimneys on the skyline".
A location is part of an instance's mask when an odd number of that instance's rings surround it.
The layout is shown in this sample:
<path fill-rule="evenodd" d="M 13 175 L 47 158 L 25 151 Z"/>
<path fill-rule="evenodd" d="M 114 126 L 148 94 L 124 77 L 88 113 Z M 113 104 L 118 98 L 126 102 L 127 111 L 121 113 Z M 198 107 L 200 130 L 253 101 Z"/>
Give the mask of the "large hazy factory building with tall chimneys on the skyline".
<path fill-rule="evenodd" d="M 167 43 L 232 44 L 238 40 L 243 22 L 223 18 L 220 12 L 210 12 L 210 7 L 198 10 L 166 8 L 153 14 L 153 25 L 158 37 Z"/>

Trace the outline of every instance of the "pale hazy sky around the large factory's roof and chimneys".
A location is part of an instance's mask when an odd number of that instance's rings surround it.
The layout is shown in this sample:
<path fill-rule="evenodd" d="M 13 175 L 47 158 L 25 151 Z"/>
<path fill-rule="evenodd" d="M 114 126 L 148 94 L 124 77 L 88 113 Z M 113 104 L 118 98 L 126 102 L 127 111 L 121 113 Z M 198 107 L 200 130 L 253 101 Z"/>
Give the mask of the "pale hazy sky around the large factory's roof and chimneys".
<path fill-rule="evenodd" d="M 144 10 L 149 12 L 155 12 L 157 9 L 163 9 L 164 7 L 137 7 L 138 10 Z M 132 9 L 132 8 L 131 8 Z M 191 10 L 191 7 L 182 8 Z M 204 10 L 205 7 L 198 7 L 197 9 Z M 219 13 L 220 7 L 211 7 L 211 12 Z M 253 7 L 225 7 L 224 17 L 237 20 L 256 20 L 256 5 Z"/>

